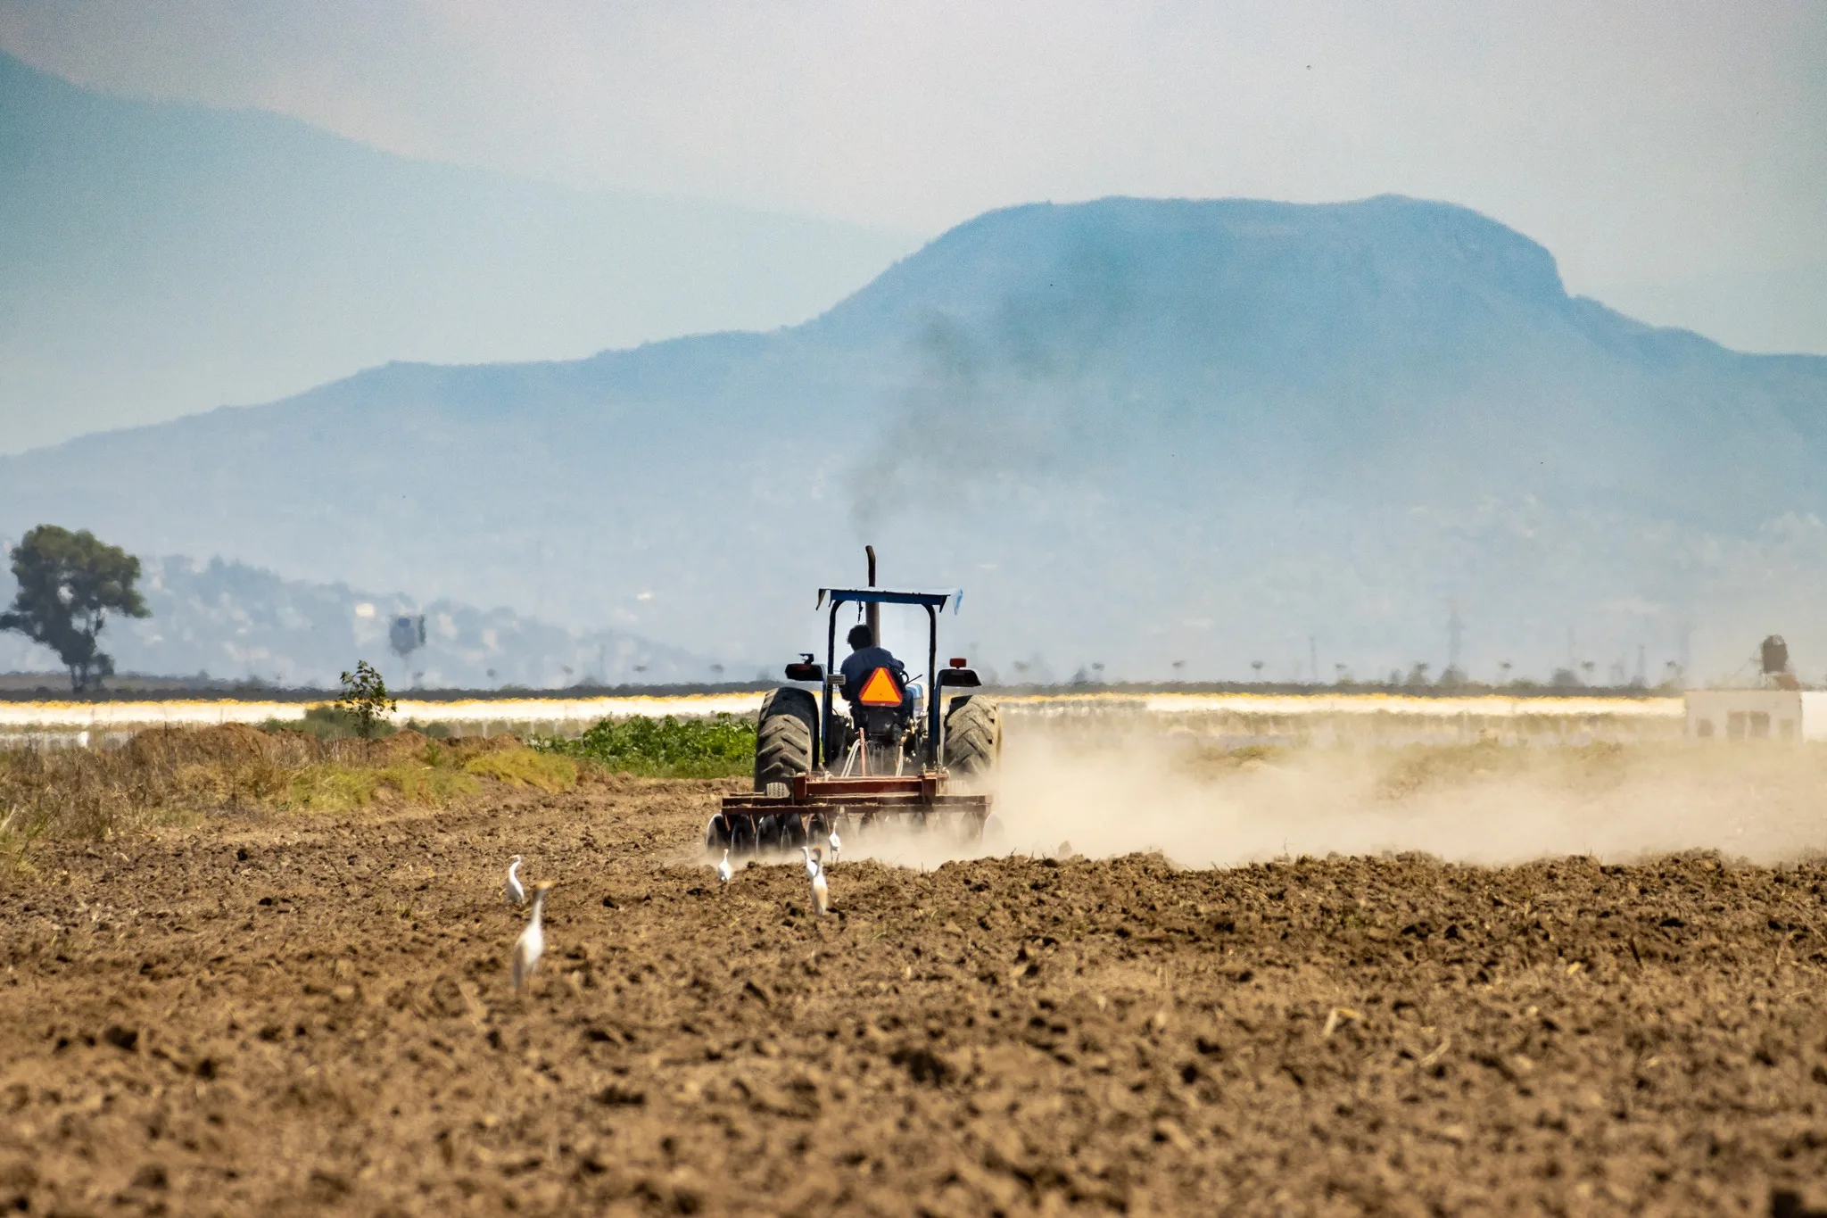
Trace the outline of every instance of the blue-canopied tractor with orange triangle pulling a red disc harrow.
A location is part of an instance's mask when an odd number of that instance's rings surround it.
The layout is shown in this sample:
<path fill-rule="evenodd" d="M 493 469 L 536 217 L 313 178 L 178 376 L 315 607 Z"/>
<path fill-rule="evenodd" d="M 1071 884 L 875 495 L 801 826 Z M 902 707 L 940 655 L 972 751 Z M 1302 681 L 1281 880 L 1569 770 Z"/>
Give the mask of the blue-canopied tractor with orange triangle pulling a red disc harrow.
<path fill-rule="evenodd" d="M 818 590 L 817 608 L 829 606 L 824 663 L 802 654 L 786 667 L 793 685 L 762 699 L 755 791 L 723 796 L 705 825 L 705 849 L 795 851 L 828 844 L 833 829 L 862 842 L 890 825 L 939 829 L 957 840 L 979 840 L 987 827 L 994 833 L 990 796 L 952 789 L 954 782 L 981 785 L 1003 751 L 994 701 L 968 692 L 945 698 L 981 685 L 963 657 L 939 667 L 939 614 L 946 604 L 956 608 L 961 593 L 877 588 L 873 548 L 868 557 L 866 588 Z M 862 612 L 875 641 L 881 606 L 924 610 L 924 676 L 903 681 L 892 668 L 875 668 L 855 707 L 844 707 L 837 617 L 846 604 Z"/>

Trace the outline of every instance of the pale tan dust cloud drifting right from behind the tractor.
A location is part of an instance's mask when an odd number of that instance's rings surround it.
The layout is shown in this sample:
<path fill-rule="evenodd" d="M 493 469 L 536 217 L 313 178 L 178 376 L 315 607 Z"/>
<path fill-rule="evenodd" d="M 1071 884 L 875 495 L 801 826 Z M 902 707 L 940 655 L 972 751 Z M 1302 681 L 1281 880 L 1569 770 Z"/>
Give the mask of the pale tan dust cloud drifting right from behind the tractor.
<path fill-rule="evenodd" d="M 983 844 L 879 831 L 850 856 L 937 866 L 981 855 L 1160 851 L 1182 867 L 1421 851 L 1515 864 L 1681 851 L 1779 864 L 1827 851 L 1827 751 L 1677 741 L 1571 747 L 1177 747 L 1160 734 L 1085 747 L 1007 741 Z"/>

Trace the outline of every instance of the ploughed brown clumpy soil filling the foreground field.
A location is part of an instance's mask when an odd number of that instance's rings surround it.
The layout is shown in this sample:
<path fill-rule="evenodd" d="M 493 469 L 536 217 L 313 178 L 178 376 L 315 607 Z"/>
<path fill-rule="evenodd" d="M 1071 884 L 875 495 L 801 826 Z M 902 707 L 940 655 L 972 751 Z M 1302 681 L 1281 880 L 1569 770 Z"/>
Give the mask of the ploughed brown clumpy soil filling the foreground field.
<path fill-rule="evenodd" d="M 29 1214 L 1827 1205 L 1827 867 L 685 866 L 727 783 L 0 880 Z M 502 866 L 554 878 L 532 992 Z"/>

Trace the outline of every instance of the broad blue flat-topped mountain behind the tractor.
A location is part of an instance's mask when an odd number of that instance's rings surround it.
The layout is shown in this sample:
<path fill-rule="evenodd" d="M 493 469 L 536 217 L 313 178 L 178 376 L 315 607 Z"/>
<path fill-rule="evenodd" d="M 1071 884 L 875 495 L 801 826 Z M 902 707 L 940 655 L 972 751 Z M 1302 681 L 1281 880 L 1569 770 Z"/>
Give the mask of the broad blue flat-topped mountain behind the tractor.
<path fill-rule="evenodd" d="M 787 331 L 395 363 L 4 458 L 0 531 L 744 663 L 822 646 L 811 590 L 873 541 L 966 586 L 946 637 L 996 667 L 1655 679 L 1770 630 L 1827 667 L 1823 475 L 1827 358 L 1569 298 L 1465 208 L 1105 199 L 981 215 Z"/>

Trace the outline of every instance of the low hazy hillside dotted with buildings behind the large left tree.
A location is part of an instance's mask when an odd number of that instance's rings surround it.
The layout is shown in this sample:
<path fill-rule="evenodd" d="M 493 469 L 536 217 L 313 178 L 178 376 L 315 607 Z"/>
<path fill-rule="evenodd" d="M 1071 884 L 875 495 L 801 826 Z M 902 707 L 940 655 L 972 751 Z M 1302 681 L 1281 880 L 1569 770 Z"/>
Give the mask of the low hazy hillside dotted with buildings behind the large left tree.
<path fill-rule="evenodd" d="M 340 672 L 367 659 L 396 690 L 660 685 L 722 676 L 703 656 L 618 630 L 576 634 L 506 608 L 449 599 L 420 604 L 221 559 L 143 561 L 139 588 L 152 617 L 113 619 L 102 630 L 102 650 L 117 672 L 336 688 Z M 0 572 L 0 599 L 11 601 L 13 592 L 11 575 Z M 404 657 L 389 648 L 396 615 L 424 615 L 424 645 Z M 0 672 L 58 668 L 53 652 L 0 634 Z"/>

